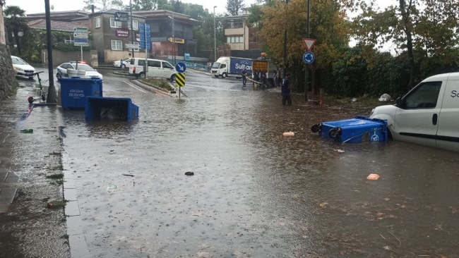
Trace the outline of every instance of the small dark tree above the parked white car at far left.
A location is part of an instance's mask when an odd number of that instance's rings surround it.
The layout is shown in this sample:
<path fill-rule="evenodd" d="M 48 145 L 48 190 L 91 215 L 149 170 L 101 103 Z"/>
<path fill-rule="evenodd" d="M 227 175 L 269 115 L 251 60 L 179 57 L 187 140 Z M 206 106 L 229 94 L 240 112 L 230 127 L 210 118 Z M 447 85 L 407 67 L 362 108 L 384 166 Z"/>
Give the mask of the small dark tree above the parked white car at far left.
<path fill-rule="evenodd" d="M 6 30 L 8 35 L 13 32 L 14 39 L 16 40 L 16 46 L 18 48 L 18 54 L 20 53 L 20 40 L 19 32 L 28 29 L 27 20 L 25 20 L 25 11 L 19 6 L 8 6 L 4 11 Z"/>

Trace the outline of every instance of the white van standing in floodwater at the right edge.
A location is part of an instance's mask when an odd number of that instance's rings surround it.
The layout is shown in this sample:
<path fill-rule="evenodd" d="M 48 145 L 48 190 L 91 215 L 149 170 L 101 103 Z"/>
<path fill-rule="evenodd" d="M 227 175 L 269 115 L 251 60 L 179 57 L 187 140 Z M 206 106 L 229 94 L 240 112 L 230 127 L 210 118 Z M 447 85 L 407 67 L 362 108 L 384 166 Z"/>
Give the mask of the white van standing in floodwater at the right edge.
<path fill-rule="evenodd" d="M 370 117 L 387 120 L 394 140 L 459 152 L 459 73 L 429 77 Z"/>

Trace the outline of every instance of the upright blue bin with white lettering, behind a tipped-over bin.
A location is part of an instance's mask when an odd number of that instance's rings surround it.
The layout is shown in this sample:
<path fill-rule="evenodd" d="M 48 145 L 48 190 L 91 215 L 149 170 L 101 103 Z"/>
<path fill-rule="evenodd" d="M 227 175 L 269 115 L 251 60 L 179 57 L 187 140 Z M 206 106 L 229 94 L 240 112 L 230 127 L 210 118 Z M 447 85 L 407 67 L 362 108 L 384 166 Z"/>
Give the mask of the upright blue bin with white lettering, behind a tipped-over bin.
<path fill-rule="evenodd" d="M 86 97 L 102 97 L 102 80 L 98 78 L 59 78 L 63 109 L 85 109 Z"/>

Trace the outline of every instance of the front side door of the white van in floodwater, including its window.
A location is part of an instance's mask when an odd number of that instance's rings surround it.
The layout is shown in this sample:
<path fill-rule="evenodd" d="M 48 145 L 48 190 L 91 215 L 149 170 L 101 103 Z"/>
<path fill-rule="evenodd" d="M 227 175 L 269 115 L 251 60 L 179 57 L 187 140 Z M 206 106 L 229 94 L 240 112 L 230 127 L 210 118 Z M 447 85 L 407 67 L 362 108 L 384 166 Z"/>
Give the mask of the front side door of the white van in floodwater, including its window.
<path fill-rule="evenodd" d="M 395 140 L 436 147 L 445 84 L 441 80 L 421 82 L 403 97 L 395 113 Z"/>

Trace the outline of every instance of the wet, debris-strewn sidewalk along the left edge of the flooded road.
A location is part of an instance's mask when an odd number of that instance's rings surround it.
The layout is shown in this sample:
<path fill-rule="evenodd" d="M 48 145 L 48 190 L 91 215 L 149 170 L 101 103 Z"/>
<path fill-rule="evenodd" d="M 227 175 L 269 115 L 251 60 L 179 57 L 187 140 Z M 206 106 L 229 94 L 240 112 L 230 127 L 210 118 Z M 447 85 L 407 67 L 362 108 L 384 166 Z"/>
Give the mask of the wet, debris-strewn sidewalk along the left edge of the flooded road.
<path fill-rule="evenodd" d="M 33 85 L 33 83 L 28 83 Z M 0 102 L 0 257 L 70 257 L 61 173 L 61 113 L 29 105 L 37 87 Z M 32 129 L 33 133 L 20 133 Z M 53 207 L 54 208 L 54 207 Z"/>

